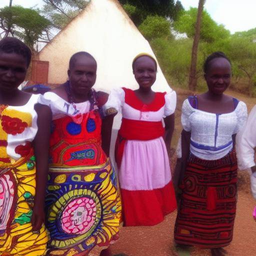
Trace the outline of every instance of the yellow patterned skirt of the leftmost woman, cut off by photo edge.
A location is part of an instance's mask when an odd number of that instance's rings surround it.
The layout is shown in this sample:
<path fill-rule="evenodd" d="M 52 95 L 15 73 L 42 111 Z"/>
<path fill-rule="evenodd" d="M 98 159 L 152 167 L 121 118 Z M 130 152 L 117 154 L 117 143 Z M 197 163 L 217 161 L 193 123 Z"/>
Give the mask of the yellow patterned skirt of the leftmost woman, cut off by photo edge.
<path fill-rule="evenodd" d="M 0 255 L 42 256 L 46 254 L 48 232 L 42 224 L 32 230 L 35 196 L 35 158 L 21 157 L 0 166 Z"/>

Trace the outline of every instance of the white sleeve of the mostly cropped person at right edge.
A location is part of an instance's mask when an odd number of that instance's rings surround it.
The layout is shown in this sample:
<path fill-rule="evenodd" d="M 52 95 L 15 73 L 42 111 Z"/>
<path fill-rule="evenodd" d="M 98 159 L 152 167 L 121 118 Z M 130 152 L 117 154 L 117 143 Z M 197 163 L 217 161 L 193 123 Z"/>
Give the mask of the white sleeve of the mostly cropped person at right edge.
<path fill-rule="evenodd" d="M 256 105 L 251 109 L 245 126 L 236 135 L 235 148 L 238 168 L 246 169 L 255 165 L 254 148 L 256 147 Z"/>

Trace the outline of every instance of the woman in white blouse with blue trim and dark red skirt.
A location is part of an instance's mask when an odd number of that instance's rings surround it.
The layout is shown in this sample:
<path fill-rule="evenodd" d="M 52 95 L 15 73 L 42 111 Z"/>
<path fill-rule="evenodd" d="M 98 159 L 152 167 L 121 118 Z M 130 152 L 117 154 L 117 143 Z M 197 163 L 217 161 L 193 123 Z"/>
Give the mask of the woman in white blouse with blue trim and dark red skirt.
<path fill-rule="evenodd" d="M 205 93 L 190 96 L 182 105 L 182 161 L 180 205 L 175 223 L 177 244 L 211 248 L 223 255 L 232 240 L 236 209 L 237 160 L 235 135 L 247 117 L 244 102 L 224 94 L 231 65 L 222 52 L 204 63 Z"/>

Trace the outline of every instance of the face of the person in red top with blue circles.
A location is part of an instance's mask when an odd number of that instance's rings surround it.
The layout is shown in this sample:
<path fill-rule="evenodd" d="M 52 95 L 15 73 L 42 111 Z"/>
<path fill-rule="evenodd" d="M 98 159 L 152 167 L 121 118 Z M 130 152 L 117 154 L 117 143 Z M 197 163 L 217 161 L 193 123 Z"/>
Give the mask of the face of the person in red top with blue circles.
<path fill-rule="evenodd" d="M 85 55 L 78 55 L 67 74 L 72 91 L 77 95 L 87 95 L 96 80 L 96 61 Z"/>

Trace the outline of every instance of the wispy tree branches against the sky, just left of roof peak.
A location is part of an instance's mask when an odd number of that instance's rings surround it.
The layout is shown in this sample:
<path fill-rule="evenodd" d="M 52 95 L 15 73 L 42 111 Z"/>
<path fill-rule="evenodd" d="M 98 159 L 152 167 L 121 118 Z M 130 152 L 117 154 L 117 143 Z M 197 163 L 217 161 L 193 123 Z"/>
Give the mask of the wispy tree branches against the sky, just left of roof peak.
<path fill-rule="evenodd" d="M 89 3 L 87 0 L 43 0 L 42 13 L 54 27 L 62 29 Z"/>

